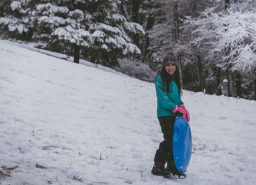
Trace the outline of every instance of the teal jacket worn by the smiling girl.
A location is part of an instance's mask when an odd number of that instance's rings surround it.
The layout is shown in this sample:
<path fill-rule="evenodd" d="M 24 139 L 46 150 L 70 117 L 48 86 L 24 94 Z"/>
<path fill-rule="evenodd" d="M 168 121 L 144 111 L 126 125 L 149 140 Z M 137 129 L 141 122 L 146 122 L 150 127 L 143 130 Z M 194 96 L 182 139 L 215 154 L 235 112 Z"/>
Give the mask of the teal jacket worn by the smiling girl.
<path fill-rule="evenodd" d="M 162 85 L 161 75 L 157 76 L 155 81 L 157 91 L 157 117 L 174 116 L 175 114 L 172 113 L 172 110 L 175 105 L 178 105 L 179 107 L 181 104 L 184 104 L 181 101 L 181 94 L 179 94 L 178 86 L 174 80 L 172 80 L 171 85 L 173 86 L 173 89 L 167 93 L 166 88 Z"/>

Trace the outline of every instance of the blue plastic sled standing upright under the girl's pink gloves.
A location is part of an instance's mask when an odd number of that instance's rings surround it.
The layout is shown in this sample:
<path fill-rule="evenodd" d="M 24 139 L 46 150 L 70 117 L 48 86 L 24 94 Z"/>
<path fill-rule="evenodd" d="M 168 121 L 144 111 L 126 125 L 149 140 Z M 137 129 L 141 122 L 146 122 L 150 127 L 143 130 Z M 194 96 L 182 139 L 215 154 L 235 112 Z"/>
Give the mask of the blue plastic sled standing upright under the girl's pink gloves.
<path fill-rule="evenodd" d="M 189 165 L 192 137 L 189 123 L 180 115 L 176 117 L 173 131 L 173 158 L 179 173 L 184 174 Z"/>

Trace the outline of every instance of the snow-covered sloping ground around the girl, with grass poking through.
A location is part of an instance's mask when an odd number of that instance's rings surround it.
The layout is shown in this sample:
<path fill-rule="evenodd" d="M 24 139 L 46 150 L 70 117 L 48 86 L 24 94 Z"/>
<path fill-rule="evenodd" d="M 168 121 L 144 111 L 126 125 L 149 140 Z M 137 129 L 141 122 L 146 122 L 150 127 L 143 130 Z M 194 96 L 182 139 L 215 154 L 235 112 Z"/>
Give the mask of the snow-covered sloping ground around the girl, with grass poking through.
<path fill-rule="evenodd" d="M 151 175 L 154 83 L 0 40 L 0 184 L 254 184 L 256 102 L 182 99 L 192 158 L 186 179 L 167 180 Z"/>

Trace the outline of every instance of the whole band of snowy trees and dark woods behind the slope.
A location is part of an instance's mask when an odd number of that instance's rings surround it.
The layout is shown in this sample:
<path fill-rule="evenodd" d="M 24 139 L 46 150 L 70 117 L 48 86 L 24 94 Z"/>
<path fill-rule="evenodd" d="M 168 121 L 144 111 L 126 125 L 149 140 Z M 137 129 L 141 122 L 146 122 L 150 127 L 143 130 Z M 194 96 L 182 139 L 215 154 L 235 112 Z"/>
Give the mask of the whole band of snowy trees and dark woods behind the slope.
<path fill-rule="evenodd" d="M 256 100 L 254 0 L 1 0 L 0 28 L 150 82 L 173 52 L 184 89 Z"/>

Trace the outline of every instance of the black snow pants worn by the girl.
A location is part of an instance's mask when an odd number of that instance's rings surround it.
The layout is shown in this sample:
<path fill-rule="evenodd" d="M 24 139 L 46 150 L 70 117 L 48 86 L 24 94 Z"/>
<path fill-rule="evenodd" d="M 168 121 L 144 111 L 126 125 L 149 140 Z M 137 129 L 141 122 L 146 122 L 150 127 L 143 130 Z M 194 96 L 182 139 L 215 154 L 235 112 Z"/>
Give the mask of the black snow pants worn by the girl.
<path fill-rule="evenodd" d="M 154 156 L 154 162 L 174 162 L 173 159 L 173 125 L 176 116 L 162 116 L 159 117 L 159 124 L 161 126 L 162 133 L 164 134 L 164 140 L 159 144 L 159 148 Z"/>

